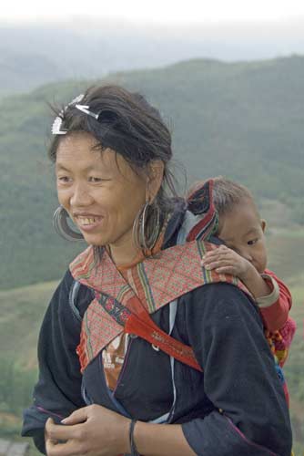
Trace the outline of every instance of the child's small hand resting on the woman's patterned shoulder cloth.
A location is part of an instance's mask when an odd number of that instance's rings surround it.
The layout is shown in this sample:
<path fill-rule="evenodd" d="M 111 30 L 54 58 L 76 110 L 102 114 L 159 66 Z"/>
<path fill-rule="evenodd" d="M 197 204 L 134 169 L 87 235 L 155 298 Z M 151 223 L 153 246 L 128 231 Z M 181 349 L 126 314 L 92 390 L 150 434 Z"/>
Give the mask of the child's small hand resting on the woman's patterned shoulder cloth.
<path fill-rule="evenodd" d="M 244 280 L 254 267 L 246 258 L 223 244 L 205 254 L 201 264 L 208 270 L 215 269 L 218 274 L 236 275 L 241 280 Z"/>

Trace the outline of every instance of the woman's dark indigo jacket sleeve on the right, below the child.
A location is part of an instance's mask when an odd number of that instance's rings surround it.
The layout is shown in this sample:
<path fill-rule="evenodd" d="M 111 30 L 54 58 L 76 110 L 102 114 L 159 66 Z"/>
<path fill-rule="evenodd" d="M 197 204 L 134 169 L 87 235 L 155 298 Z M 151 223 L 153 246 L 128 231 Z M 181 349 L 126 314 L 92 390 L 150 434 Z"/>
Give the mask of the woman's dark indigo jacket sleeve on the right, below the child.
<path fill-rule="evenodd" d="M 290 456 L 289 410 L 256 306 L 234 285 L 205 285 L 187 303 L 187 328 L 217 411 L 183 424 L 204 456 Z"/>

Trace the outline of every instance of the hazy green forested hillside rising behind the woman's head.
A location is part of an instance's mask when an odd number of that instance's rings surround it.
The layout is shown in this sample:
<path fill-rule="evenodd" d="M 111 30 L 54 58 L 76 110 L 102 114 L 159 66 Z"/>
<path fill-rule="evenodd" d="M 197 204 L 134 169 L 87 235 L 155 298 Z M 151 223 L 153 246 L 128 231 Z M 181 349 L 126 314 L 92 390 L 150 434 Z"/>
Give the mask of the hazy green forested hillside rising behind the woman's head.
<path fill-rule="evenodd" d="M 160 109 L 173 132 L 188 182 L 224 174 L 255 195 L 284 202 L 285 217 L 304 223 L 304 58 L 227 64 L 191 60 L 114 74 Z M 1 288 L 57 279 L 83 245 L 61 241 L 47 102 L 69 101 L 94 83 L 69 80 L 0 101 Z M 182 181 L 182 179 L 181 179 Z"/>

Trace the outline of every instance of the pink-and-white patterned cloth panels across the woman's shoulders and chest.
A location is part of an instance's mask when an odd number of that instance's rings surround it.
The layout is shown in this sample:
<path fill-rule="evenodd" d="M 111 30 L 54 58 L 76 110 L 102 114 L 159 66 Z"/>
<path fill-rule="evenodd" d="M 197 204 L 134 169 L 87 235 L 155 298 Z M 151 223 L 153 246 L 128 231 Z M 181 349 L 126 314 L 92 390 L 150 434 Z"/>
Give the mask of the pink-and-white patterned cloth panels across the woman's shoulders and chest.
<path fill-rule="evenodd" d="M 77 348 L 82 370 L 111 340 L 124 331 L 129 312 L 137 315 L 142 312 L 135 296 L 147 312 L 152 314 L 179 296 L 205 284 L 228 282 L 248 293 L 238 278 L 218 275 L 201 266 L 203 254 L 214 248 L 217 246 L 202 241 L 170 247 L 130 268 L 127 271 L 127 281 L 106 252 L 98 266 L 93 247 L 90 246 L 79 254 L 70 264 L 71 274 L 81 284 L 97 292 L 97 298 L 86 309 Z M 98 302 L 100 299 L 103 301 Z M 106 310 L 104 306 L 107 306 Z M 123 308 L 126 309 L 125 313 Z M 119 314 L 120 322 L 110 316 L 111 312 Z"/>

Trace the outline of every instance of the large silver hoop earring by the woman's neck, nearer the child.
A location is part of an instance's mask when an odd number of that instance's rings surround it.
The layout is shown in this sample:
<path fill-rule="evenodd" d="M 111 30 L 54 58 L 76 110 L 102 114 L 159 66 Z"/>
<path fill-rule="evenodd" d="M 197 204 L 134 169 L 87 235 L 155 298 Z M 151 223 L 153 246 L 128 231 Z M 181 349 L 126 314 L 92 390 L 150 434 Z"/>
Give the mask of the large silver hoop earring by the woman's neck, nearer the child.
<path fill-rule="evenodd" d="M 146 202 L 133 223 L 133 242 L 137 249 L 152 250 L 160 233 L 160 209 L 156 202 Z"/>

